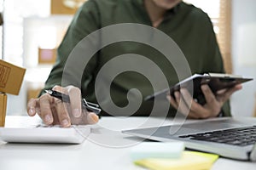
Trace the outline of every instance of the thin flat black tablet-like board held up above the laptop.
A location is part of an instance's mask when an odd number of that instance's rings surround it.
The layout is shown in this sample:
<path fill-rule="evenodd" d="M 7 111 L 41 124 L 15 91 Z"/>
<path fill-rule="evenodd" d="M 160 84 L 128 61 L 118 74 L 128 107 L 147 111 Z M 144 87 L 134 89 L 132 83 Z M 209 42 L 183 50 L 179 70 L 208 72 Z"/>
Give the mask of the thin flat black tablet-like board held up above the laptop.
<path fill-rule="evenodd" d="M 172 97 L 174 97 L 175 91 L 178 91 L 180 88 L 187 88 L 187 89 L 190 89 L 189 91 L 191 92 L 192 92 L 191 89 L 193 89 L 193 98 L 201 105 L 204 105 L 206 101 L 201 91 L 202 84 L 207 84 L 212 89 L 212 93 L 216 94 L 218 90 L 221 90 L 224 88 L 231 88 L 236 84 L 239 84 L 242 82 L 248 82 L 251 80 L 253 80 L 253 78 L 251 77 L 241 77 L 237 75 L 222 74 L 222 73 L 195 74 L 191 77 L 184 79 L 182 82 L 178 82 L 176 85 L 174 85 L 171 88 L 166 88 L 155 94 L 148 95 L 144 99 L 145 100 L 154 99 L 154 98 L 157 99 L 160 97 L 166 98 L 166 94 L 168 92 L 170 92 Z M 191 85 L 193 85 L 193 88 Z"/>

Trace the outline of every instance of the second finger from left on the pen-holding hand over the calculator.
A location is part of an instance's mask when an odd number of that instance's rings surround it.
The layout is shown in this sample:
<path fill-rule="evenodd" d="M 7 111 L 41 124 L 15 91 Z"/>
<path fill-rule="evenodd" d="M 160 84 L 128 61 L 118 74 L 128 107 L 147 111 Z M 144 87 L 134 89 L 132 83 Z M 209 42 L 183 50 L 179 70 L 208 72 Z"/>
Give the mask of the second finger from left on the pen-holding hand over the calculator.
<path fill-rule="evenodd" d="M 49 125 L 53 122 L 53 116 L 51 111 L 52 97 L 49 94 L 42 95 L 39 99 L 40 107 L 40 116 L 43 119 L 44 123 Z"/>

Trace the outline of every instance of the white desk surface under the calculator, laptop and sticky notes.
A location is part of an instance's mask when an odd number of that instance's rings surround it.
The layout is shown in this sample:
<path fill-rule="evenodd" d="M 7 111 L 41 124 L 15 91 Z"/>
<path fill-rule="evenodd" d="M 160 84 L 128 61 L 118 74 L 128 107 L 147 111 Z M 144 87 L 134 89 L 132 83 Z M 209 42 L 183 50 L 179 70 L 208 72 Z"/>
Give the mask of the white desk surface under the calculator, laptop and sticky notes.
<path fill-rule="evenodd" d="M 38 117 L 7 116 L 6 126 L 37 121 Z M 163 122 L 159 118 L 102 117 L 97 125 L 92 126 L 92 133 L 83 144 L 5 144 L 0 142 L 0 169 L 143 169 L 133 165 L 129 157 L 132 145 L 140 142 L 140 139 L 120 133 L 120 130 L 138 127 L 145 122 L 145 126 L 170 123 Z M 219 158 L 212 169 L 253 170 L 255 167 L 256 162 Z"/>

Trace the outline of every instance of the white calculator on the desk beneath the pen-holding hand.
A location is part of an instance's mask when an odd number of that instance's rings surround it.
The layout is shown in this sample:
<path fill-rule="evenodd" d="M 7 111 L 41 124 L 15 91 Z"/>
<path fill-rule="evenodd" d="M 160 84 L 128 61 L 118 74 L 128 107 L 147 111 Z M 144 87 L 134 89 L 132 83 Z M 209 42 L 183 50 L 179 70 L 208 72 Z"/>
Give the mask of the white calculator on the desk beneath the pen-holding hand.
<path fill-rule="evenodd" d="M 11 143 L 81 144 L 90 134 L 89 126 L 0 127 L 0 140 Z"/>

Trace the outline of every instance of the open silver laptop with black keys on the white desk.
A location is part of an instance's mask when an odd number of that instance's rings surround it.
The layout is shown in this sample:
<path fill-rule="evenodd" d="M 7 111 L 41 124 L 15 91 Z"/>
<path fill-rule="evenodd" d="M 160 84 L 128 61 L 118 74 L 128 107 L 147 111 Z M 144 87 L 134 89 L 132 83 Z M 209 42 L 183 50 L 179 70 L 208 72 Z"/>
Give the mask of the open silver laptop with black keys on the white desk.
<path fill-rule="evenodd" d="M 183 125 L 147 127 L 123 133 L 156 141 L 183 141 L 191 150 L 243 161 L 256 161 L 256 118 L 219 117 Z"/>

